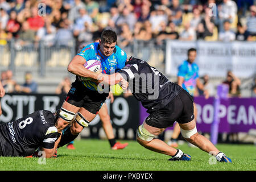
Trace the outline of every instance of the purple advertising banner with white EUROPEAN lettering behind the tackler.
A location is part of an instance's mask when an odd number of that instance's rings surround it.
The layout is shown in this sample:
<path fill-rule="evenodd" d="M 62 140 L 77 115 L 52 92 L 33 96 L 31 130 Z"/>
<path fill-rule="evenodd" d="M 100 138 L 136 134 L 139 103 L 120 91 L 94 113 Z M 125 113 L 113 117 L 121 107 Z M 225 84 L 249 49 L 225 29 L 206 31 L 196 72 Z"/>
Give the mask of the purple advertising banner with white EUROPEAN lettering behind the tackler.
<path fill-rule="evenodd" d="M 204 97 L 195 97 L 197 107 L 197 130 L 210 133 L 214 119 L 214 97 L 206 100 Z M 141 121 L 147 118 L 146 109 L 141 106 Z M 256 129 L 256 98 L 229 98 L 221 99 L 218 111 L 220 123 L 219 133 L 247 132 Z"/>

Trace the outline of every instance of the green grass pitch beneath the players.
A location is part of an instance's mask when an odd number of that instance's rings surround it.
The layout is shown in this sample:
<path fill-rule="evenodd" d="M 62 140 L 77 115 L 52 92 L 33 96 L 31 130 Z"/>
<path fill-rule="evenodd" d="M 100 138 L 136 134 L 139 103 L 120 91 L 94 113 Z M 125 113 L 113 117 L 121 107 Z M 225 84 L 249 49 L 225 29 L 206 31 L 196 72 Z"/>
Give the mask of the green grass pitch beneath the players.
<path fill-rule="evenodd" d="M 233 163 L 216 163 L 212 156 L 187 143 L 179 148 L 192 156 L 190 162 L 170 162 L 167 155 L 143 148 L 135 140 L 127 140 L 123 150 L 110 150 L 108 140 L 75 140 L 76 150 L 59 148 L 57 159 L 0 157 L 0 170 L 12 171 L 255 171 L 256 146 L 218 144 Z"/>

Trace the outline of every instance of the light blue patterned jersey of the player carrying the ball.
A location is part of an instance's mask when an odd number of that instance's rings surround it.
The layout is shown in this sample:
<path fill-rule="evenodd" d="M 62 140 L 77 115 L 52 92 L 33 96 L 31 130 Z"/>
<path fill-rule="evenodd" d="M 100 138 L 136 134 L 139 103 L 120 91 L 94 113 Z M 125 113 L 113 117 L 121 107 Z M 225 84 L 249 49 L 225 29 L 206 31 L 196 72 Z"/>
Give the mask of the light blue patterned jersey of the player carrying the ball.
<path fill-rule="evenodd" d="M 99 43 L 92 43 L 84 47 L 77 55 L 84 57 L 88 60 L 99 60 L 101 61 L 102 73 L 112 74 L 119 72 L 125 67 L 127 55 L 120 47 L 115 46 L 112 55 L 104 56 L 100 51 Z M 97 90 L 97 84 L 93 81 L 82 81 L 82 84 L 90 90 Z"/>

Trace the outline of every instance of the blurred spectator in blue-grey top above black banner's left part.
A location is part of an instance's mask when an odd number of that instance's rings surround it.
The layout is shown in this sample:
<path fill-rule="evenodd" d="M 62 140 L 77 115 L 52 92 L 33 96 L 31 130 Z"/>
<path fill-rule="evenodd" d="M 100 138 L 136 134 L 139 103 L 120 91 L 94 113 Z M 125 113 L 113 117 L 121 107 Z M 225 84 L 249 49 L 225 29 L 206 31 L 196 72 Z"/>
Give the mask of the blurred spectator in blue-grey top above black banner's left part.
<path fill-rule="evenodd" d="M 24 84 L 22 84 L 21 86 L 16 85 L 15 89 L 17 92 L 22 93 L 36 93 L 38 90 L 38 84 L 32 80 L 31 72 L 26 72 Z"/>

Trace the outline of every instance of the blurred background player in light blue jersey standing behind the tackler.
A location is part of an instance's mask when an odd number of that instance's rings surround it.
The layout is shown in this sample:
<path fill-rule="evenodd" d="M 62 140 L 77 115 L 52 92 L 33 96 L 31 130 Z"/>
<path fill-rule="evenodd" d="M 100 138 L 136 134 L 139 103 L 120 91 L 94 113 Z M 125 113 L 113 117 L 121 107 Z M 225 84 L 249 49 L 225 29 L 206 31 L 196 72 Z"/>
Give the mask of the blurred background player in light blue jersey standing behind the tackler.
<path fill-rule="evenodd" d="M 199 78 L 199 66 L 194 63 L 196 60 L 196 49 L 190 48 L 188 49 L 188 59 L 183 61 L 181 65 L 179 65 L 179 71 L 177 73 L 177 84 L 180 85 L 184 90 L 186 90 L 192 97 L 195 96 L 198 87 L 201 90 L 204 90 L 204 85 L 201 83 Z M 205 98 L 209 97 L 208 90 L 204 90 Z M 194 114 L 195 120 L 197 117 L 197 109 L 195 102 L 194 105 Z M 174 126 L 174 132 L 172 133 L 171 140 L 168 142 L 172 147 L 178 147 L 177 138 L 180 134 L 179 125 Z"/>

